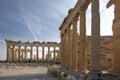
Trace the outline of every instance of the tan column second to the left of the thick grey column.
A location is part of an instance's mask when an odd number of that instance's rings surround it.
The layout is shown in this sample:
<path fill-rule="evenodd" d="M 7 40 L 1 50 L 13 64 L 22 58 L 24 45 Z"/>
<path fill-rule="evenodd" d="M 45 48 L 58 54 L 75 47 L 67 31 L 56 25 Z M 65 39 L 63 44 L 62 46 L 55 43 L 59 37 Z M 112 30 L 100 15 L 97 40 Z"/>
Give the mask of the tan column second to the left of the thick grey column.
<path fill-rule="evenodd" d="M 78 33 L 77 33 L 77 21 L 78 19 L 75 18 L 73 20 L 73 40 L 72 40 L 72 47 L 73 47 L 73 69 L 78 70 Z"/>

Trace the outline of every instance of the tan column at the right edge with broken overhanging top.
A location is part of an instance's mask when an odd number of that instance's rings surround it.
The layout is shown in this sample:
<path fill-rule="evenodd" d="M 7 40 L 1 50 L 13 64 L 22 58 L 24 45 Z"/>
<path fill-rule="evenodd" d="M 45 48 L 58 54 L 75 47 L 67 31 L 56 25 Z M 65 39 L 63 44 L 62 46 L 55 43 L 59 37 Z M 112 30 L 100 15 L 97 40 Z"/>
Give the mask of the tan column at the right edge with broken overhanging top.
<path fill-rule="evenodd" d="M 120 73 L 120 0 L 110 0 L 109 4 L 114 4 L 114 20 L 113 20 L 113 60 L 112 71 L 114 73 Z"/>

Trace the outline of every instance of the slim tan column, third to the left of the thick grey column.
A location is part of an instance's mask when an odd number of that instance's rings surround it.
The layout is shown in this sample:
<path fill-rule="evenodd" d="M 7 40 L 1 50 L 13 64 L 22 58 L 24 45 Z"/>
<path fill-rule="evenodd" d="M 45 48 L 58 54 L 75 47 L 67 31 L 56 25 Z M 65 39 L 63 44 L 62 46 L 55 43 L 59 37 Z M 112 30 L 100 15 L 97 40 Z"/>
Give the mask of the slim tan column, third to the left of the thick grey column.
<path fill-rule="evenodd" d="M 72 69 L 72 31 L 71 25 L 68 27 L 68 57 L 69 57 L 69 68 Z"/>

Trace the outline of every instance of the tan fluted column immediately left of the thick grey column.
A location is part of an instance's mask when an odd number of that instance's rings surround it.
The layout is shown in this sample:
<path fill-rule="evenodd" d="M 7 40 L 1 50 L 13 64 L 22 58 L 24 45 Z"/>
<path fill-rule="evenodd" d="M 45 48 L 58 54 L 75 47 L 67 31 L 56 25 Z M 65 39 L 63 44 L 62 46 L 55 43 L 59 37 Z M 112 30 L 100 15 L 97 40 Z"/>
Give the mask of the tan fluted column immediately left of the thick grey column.
<path fill-rule="evenodd" d="M 79 36 L 79 71 L 85 71 L 85 44 L 86 44 L 86 10 L 80 9 L 80 36 Z"/>

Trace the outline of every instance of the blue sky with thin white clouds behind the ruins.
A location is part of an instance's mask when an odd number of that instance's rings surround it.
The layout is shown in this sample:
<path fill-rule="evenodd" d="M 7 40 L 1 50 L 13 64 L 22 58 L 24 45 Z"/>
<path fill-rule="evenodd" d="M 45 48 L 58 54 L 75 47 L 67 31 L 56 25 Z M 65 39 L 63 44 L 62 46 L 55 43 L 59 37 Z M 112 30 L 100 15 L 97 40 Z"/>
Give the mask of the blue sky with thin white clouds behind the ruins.
<path fill-rule="evenodd" d="M 100 0 L 101 35 L 112 35 L 113 6 Z M 0 60 L 6 59 L 4 39 L 21 41 L 60 41 L 63 19 L 77 0 L 0 0 Z M 87 34 L 91 33 L 91 11 L 87 10 Z"/>

